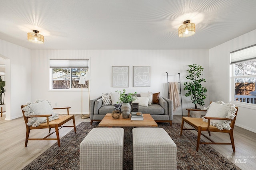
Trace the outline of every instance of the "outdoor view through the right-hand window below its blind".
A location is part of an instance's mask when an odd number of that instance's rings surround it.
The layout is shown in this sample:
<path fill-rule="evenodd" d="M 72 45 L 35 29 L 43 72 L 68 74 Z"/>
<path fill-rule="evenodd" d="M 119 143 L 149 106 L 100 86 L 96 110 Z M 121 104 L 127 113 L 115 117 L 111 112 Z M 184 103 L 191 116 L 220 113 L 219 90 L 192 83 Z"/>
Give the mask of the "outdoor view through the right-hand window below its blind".
<path fill-rule="evenodd" d="M 234 64 L 234 100 L 256 104 L 256 60 Z"/>

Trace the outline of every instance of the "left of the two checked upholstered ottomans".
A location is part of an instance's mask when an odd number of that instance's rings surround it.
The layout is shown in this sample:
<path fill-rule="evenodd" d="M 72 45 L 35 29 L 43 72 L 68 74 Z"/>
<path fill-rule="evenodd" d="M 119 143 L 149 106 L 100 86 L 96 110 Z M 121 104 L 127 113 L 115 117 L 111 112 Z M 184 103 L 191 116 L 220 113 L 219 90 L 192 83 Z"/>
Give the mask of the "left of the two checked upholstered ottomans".
<path fill-rule="evenodd" d="M 123 170 L 124 129 L 92 129 L 80 144 L 80 170 Z"/>

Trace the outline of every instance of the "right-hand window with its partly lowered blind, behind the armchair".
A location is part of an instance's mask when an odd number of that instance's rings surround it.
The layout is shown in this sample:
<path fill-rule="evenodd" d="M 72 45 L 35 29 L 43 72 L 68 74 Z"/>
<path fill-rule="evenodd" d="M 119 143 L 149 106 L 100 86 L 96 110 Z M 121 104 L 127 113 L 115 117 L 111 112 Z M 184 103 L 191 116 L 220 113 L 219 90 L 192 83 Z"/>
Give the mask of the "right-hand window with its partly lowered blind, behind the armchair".
<path fill-rule="evenodd" d="M 230 53 L 232 100 L 246 105 L 256 104 L 256 45 Z"/>

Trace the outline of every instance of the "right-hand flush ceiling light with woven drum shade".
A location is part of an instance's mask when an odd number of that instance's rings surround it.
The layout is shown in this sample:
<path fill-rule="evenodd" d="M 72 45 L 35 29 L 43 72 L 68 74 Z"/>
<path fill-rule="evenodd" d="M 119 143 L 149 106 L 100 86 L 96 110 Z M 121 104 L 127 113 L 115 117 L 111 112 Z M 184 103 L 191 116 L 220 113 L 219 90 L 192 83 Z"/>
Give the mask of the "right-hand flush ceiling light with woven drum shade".
<path fill-rule="evenodd" d="M 189 37 L 196 32 L 196 24 L 190 23 L 190 20 L 183 22 L 183 25 L 179 27 L 179 37 Z"/>

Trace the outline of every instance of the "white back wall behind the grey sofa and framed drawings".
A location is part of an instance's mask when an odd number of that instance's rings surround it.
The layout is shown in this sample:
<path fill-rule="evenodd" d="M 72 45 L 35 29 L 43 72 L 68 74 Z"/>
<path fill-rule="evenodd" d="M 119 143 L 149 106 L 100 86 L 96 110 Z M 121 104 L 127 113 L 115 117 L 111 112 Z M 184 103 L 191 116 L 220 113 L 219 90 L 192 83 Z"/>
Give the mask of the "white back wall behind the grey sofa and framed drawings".
<path fill-rule="evenodd" d="M 184 97 L 183 83 L 186 81 L 188 64 L 200 64 L 204 78 L 208 78 L 208 50 L 31 50 L 31 100 L 37 98 L 50 100 L 52 106 L 71 106 L 72 113 L 81 113 L 81 91 L 72 92 L 49 90 L 49 59 L 90 59 L 90 99 L 102 93 L 126 89 L 127 92 L 160 92 L 168 97 L 167 75 L 180 72 L 182 81 L 183 110 L 193 107 L 189 98 Z M 129 87 L 112 88 L 112 66 L 129 66 Z M 133 87 L 132 66 L 150 66 L 150 87 Z M 169 77 L 178 81 L 178 76 Z M 207 83 L 204 86 L 208 86 Z M 208 98 L 205 104 L 209 103 Z M 83 92 L 83 113 L 88 113 L 88 92 Z M 176 111 L 181 113 L 181 108 Z"/>

